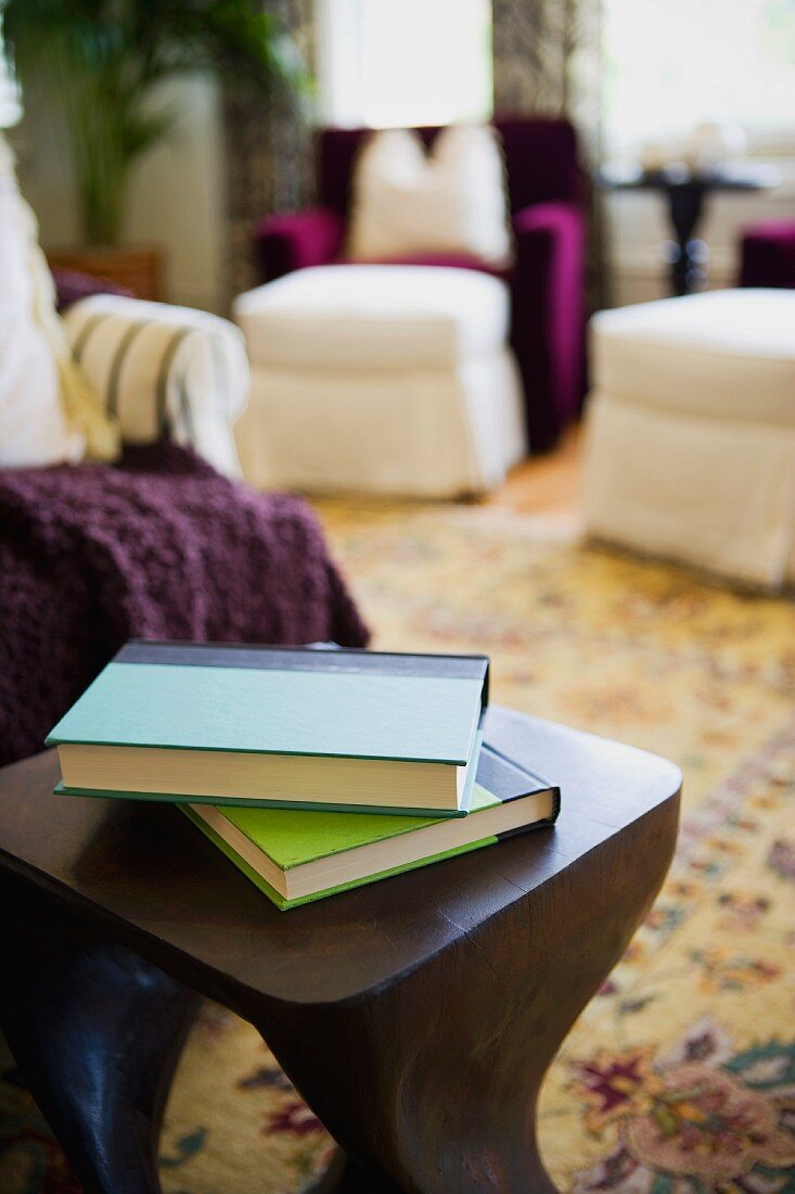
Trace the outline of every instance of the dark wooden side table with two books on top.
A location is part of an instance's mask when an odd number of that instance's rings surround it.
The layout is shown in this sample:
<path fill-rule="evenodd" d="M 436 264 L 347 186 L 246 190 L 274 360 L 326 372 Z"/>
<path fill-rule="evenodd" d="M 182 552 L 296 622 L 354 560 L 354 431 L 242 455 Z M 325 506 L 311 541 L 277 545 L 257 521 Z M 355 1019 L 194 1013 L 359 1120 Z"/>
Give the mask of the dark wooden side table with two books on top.
<path fill-rule="evenodd" d="M 88 1194 L 154 1194 L 197 996 L 261 1032 L 345 1153 L 319 1189 L 536 1194 L 538 1087 L 673 851 L 680 774 L 505 709 L 555 829 L 278 912 L 178 810 L 0 771 L 0 1014 Z M 224 1194 L 235 1194 L 226 1190 Z"/>

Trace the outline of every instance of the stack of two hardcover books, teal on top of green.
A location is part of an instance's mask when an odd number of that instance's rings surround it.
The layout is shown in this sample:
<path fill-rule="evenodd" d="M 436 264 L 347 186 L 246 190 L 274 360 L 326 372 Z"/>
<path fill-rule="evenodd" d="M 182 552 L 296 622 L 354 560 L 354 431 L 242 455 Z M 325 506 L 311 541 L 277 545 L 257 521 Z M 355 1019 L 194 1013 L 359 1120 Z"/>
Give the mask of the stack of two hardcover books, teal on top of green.
<path fill-rule="evenodd" d="M 56 792 L 179 805 L 289 909 L 554 821 L 487 701 L 481 656 L 130 642 L 48 745 Z"/>

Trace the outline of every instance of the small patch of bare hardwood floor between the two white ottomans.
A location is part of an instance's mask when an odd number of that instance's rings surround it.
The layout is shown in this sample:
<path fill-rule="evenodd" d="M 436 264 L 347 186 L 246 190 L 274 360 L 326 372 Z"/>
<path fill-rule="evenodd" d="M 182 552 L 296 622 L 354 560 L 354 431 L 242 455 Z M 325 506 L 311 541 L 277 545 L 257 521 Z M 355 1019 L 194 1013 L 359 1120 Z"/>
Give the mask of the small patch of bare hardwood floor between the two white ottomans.
<path fill-rule="evenodd" d="M 583 436 L 572 427 L 559 448 L 524 461 L 483 505 L 518 513 L 577 516 L 580 507 Z"/>

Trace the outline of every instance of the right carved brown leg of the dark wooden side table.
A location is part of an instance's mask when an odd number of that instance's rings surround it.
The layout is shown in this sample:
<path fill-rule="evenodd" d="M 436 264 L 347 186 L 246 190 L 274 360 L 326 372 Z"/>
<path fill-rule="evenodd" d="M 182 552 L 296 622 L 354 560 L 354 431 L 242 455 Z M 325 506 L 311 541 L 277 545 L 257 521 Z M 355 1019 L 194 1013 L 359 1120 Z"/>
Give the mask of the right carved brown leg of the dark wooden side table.
<path fill-rule="evenodd" d="M 347 1168 L 327 1189 L 554 1192 L 536 1141 L 538 1088 L 664 878 L 670 821 L 657 857 L 636 825 L 387 990 L 263 1013 L 297 1089 L 371 1175 L 362 1186 Z"/>

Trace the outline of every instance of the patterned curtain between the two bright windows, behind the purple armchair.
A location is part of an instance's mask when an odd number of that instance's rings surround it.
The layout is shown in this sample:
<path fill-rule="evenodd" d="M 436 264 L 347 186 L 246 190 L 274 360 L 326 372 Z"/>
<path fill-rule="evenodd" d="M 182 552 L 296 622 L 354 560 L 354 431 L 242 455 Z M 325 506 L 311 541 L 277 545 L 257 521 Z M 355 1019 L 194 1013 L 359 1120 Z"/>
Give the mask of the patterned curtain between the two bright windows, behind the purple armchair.
<path fill-rule="evenodd" d="M 492 0 L 492 10 L 495 110 L 568 117 L 593 174 L 602 161 L 602 0 Z M 608 306 L 604 214 L 596 187 L 588 291 L 592 308 Z"/>

